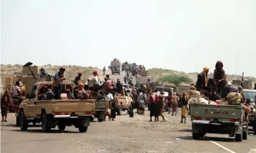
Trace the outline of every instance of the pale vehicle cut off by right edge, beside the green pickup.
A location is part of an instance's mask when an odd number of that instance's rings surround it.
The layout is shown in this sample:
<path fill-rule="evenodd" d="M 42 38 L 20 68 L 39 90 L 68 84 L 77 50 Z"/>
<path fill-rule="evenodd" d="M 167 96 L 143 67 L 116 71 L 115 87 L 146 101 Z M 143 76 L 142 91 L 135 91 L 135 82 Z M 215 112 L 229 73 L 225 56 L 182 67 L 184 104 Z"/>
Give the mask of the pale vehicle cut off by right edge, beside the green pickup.
<path fill-rule="evenodd" d="M 250 90 L 250 89 L 244 89 L 244 97 L 246 99 L 252 99 L 252 104 L 255 104 L 255 97 L 256 97 L 256 90 Z M 250 108 L 250 113 L 248 114 L 249 118 L 249 126 L 252 126 L 254 129 L 254 133 L 256 134 L 256 106 L 254 105 L 248 105 L 247 106 Z"/>

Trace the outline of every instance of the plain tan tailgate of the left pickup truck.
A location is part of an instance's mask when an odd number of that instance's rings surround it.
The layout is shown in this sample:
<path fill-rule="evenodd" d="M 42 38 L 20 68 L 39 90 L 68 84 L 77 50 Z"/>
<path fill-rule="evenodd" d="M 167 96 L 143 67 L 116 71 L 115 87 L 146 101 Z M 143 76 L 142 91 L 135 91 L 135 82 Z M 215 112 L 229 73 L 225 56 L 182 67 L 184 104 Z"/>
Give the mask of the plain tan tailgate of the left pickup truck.
<path fill-rule="evenodd" d="M 67 112 L 75 114 L 83 114 L 85 112 L 94 112 L 94 99 L 89 100 L 56 100 L 53 101 L 53 112 Z"/>

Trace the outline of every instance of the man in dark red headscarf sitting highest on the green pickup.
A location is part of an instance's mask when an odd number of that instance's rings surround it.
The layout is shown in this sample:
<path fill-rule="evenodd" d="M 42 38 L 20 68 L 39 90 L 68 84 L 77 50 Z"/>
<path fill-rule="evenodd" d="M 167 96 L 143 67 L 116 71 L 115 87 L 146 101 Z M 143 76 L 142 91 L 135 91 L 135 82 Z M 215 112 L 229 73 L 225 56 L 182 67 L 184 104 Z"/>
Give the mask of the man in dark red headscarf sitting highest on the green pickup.
<path fill-rule="evenodd" d="M 213 80 L 217 85 L 217 91 L 220 93 L 220 89 L 227 84 L 225 70 L 223 69 L 223 63 L 217 61 L 213 73 Z"/>

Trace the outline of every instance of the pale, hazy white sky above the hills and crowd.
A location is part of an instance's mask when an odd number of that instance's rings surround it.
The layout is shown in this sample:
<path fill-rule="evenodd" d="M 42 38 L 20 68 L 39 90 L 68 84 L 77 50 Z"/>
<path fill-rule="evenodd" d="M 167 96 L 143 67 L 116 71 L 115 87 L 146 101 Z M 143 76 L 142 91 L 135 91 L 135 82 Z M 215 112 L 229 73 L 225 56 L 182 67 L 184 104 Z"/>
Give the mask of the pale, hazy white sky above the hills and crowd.
<path fill-rule="evenodd" d="M 1 64 L 110 65 L 256 77 L 255 0 L 2 0 Z"/>

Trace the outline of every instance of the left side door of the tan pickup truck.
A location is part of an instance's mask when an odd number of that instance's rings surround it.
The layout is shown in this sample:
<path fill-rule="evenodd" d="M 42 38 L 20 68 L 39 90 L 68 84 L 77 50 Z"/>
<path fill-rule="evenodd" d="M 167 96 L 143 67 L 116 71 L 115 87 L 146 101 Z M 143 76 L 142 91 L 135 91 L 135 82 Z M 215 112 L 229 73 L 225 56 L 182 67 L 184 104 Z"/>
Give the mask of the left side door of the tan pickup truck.
<path fill-rule="evenodd" d="M 24 108 L 24 112 L 26 117 L 28 118 L 36 118 L 36 99 L 37 99 L 37 85 L 34 85 L 32 89 L 32 94 L 34 97 L 32 97 L 26 104 L 26 108 Z"/>

